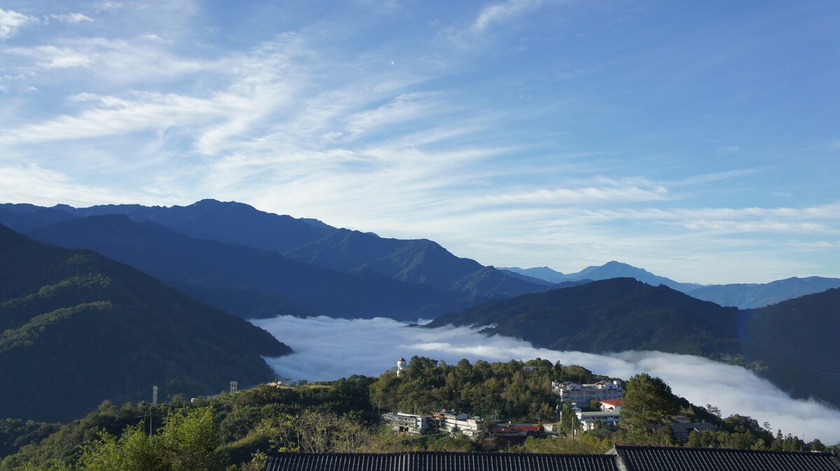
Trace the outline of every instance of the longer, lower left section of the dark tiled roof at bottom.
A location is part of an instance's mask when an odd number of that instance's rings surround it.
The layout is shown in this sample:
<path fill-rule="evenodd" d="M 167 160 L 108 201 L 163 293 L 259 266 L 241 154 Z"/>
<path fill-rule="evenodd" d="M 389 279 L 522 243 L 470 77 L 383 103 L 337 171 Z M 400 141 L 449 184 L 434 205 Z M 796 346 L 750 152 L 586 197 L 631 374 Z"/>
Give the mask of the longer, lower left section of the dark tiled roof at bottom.
<path fill-rule="evenodd" d="M 609 455 L 532 453 L 276 453 L 263 471 L 617 471 Z"/>

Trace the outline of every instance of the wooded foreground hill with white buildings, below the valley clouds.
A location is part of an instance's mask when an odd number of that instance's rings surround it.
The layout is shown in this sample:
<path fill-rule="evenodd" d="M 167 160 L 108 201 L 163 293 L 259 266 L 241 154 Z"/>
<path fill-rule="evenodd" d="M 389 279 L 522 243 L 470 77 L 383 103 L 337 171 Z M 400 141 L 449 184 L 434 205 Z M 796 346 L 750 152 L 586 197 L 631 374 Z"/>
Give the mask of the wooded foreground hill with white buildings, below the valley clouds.
<path fill-rule="evenodd" d="M 6 419 L 0 471 L 105 471 L 125 460 L 140 463 L 125 469 L 145 470 L 148 459 L 160 469 L 255 471 L 278 451 L 602 454 L 627 445 L 837 448 L 774 435 L 748 416 L 722 417 L 647 374 L 625 381 L 539 358 L 446 364 L 414 356 L 378 377 L 237 384 L 216 397 L 158 404 L 106 401 L 66 424 Z"/>

